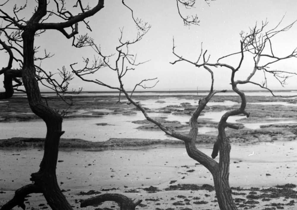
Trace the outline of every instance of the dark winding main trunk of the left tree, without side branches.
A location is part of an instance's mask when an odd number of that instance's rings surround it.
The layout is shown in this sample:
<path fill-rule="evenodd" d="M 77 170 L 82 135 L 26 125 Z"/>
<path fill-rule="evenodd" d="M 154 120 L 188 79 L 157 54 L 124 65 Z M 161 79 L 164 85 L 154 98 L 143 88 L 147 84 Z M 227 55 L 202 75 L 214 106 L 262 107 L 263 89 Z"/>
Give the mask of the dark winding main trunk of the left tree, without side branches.
<path fill-rule="evenodd" d="M 43 4 L 39 4 L 38 11 L 40 13 L 43 11 L 40 7 L 46 8 L 46 4 L 46 1 L 43 1 Z M 45 199 L 52 209 L 72 209 L 62 194 L 56 178 L 59 140 L 60 136 L 64 133 L 62 132 L 62 116 L 42 102 L 39 86 L 35 79 L 34 34 L 36 29 L 34 29 L 33 25 L 34 18 L 38 21 L 38 15 L 40 14 L 35 13 L 32 16 L 30 19 L 31 22 L 29 21 L 22 34 L 24 54 L 23 83 L 31 110 L 42 118 L 47 126 L 44 156 L 40 164 L 40 170 L 37 173 L 31 174 L 31 181 L 34 181 L 34 184 L 42 189 Z M 30 23 L 32 25 L 29 25 Z"/>

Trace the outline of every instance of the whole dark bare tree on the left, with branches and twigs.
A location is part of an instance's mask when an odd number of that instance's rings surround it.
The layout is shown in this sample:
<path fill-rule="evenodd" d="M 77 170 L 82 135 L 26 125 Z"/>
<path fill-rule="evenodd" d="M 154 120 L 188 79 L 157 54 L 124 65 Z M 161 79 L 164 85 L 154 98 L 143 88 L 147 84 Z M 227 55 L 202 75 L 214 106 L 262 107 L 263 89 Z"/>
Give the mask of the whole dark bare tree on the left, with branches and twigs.
<path fill-rule="evenodd" d="M 7 3 L 8 1 L 6 1 Z M 56 164 L 58 158 L 58 148 L 60 136 L 64 133 L 62 131 L 62 115 L 57 113 L 53 108 L 50 108 L 44 100 L 42 100 L 40 89 L 38 86 L 37 78 L 42 80 L 40 72 L 44 72 L 41 68 L 35 65 L 35 61 L 40 60 L 35 57 L 36 48 L 34 47 L 34 37 L 36 34 L 43 33 L 44 30 L 58 30 L 66 38 L 73 38 L 78 33 L 78 23 L 84 22 L 87 27 L 88 23 L 85 22 L 86 18 L 96 14 L 104 6 L 103 0 L 99 0 L 97 5 L 93 8 L 83 8 L 81 1 L 76 1 L 76 7 L 80 5 L 80 13 L 78 15 L 72 15 L 71 12 L 65 9 L 64 1 L 53 1 L 56 4 L 56 12 L 48 11 L 48 2 L 46 0 L 37 1 L 37 7 L 29 20 L 25 18 L 19 18 L 18 12 L 26 7 L 26 4 L 21 7 L 15 6 L 13 8 L 13 15 L 9 15 L 7 12 L 0 9 L 0 18 L 6 25 L 2 26 L 0 31 L 1 35 L 7 39 L 8 44 L 1 41 L 3 49 L 9 53 L 9 62 L 7 67 L 3 68 L 1 73 L 4 74 L 5 94 L 2 94 L 2 98 L 11 97 L 13 94 L 12 80 L 17 81 L 16 78 L 21 77 L 22 83 L 25 87 L 27 98 L 30 108 L 33 113 L 39 116 L 47 126 L 47 134 L 44 143 L 44 156 L 40 163 L 40 169 L 36 173 L 31 174 L 31 181 L 34 184 L 26 185 L 16 191 L 15 197 L 8 203 L 4 204 L 1 209 L 12 209 L 14 206 L 21 206 L 25 209 L 24 198 L 30 193 L 43 193 L 45 199 L 52 209 L 72 209 L 66 198 L 62 194 L 57 178 L 56 178 Z M 4 3 L 5 4 L 5 3 Z M 3 5 L 2 5 L 3 6 Z M 62 22 L 50 23 L 45 20 L 49 20 L 50 16 L 56 16 L 61 18 Z M 68 34 L 65 29 L 70 28 L 72 32 Z M 18 50 L 17 47 L 22 50 Z M 21 56 L 21 59 L 17 59 L 12 53 L 15 50 Z M 49 54 L 45 52 L 45 57 Z M 12 62 L 20 63 L 20 70 L 12 70 Z M 71 78 L 71 75 L 66 72 L 63 73 L 64 77 L 61 85 L 59 86 L 62 91 L 65 88 L 65 84 Z M 49 84 L 56 86 L 56 81 L 52 79 L 52 74 L 45 74 Z M 65 89 L 64 89 L 65 90 Z"/>

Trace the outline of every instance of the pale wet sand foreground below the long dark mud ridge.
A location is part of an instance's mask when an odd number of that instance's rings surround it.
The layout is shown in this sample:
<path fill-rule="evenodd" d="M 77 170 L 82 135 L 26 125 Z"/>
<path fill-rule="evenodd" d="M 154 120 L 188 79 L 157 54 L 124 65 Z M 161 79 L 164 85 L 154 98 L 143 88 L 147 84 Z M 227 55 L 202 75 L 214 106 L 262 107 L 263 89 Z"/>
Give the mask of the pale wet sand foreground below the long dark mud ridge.
<path fill-rule="evenodd" d="M 248 201 L 251 203 L 251 200 L 256 201 L 253 209 L 263 209 L 264 204 L 272 206 L 272 203 L 282 203 L 285 205 L 294 200 L 297 195 L 294 193 L 291 193 L 291 197 L 288 195 L 282 197 L 279 194 L 277 198 L 270 198 L 269 193 L 258 199 L 249 199 L 247 196 L 250 192 L 261 195 L 263 192 L 260 190 L 263 188 L 269 189 L 275 185 L 297 183 L 295 147 L 296 143 L 293 141 L 232 146 L 230 186 L 240 187 L 240 190 L 233 189 L 233 192 L 241 193 L 233 195 L 233 198 L 245 199 L 241 200 L 241 204 Z M 212 151 L 207 145 L 203 145 L 201 150 L 206 154 L 211 154 Z M 38 170 L 42 155 L 43 151 L 39 149 L 0 151 L 1 160 L 7 163 L 2 165 L 0 170 L 0 192 L 2 192 L 0 204 L 9 200 L 14 190 L 31 183 L 29 174 Z M 201 187 L 205 184 L 213 186 L 211 174 L 189 158 L 182 146 L 158 146 L 133 150 L 60 151 L 57 178 L 61 189 L 65 191 L 64 194 L 75 207 L 79 206 L 79 202 L 75 203 L 75 199 L 94 196 L 79 195 L 79 192 L 94 190 L 100 193 L 123 193 L 133 199 L 143 199 L 142 205 L 146 206 L 138 207 L 138 209 L 158 207 L 180 209 L 177 207 L 183 205 L 190 209 L 199 209 L 199 207 L 218 209 L 217 202 L 214 202 L 214 190 L 195 190 L 195 186 Z M 194 185 L 192 186 L 194 189 L 191 190 L 189 185 Z M 156 192 L 144 190 L 151 186 L 156 188 Z M 181 190 L 181 186 L 189 187 L 189 189 Z M 259 189 L 251 189 L 251 187 Z M 167 188 L 176 190 L 168 191 Z M 297 190 L 296 186 L 293 189 Z M 297 193 L 297 191 L 294 192 Z M 195 197 L 200 199 L 195 200 Z M 264 202 L 262 201 L 264 198 L 271 200 Z M 175 205 L 177 201 L 182 202 L 180 205 Z M 204 201 L 204 203 L 195 204 L 195 201 Z M 156 203 L 159 205 L 156 206 Z M 248 203 L 243 206 L 251 206 Z M 47 206 L 42 195 L 30 195 L 26 204 L 30 208 L 38 208 L 40 204 Z M 110 208 L 110 205 L 114 204 L 107 202 L 103 206 Z M 239 209 L 244 209 L 244 207 Z M 286 206 L 286 209 L 295 209 L 295 207 Z M 100 208 L 103 207 L 100 206 Z"/>

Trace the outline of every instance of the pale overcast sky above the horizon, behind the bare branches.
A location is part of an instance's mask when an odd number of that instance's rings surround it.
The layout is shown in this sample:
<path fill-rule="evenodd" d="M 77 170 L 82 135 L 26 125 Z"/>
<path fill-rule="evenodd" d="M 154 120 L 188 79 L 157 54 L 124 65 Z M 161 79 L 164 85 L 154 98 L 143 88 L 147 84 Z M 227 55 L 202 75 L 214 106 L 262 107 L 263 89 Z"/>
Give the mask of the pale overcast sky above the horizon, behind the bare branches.
<path fill-rule="evenodd" d="M 16 2 L 16 1 L 15 1 Z M 173 0 L 137 0 L 125 1 L 134 10 L 134 15 L 151 25 L 149 32 L 143 39 L 134 46 L 131 46 L 130 53 L 137 53 L 137 61 L 149 62 L 136 67 L 134 71 L 128 72 L 124 78 L 126 89 L 134 87 L 135 83 L 142 79 L 157 77 L 159 83 L 154 90 L 178 90 L 188 89 L 200 90 L 209 89 L 210 75 L 203 68 L 197 68 L 186 62 L 170 64 L 176 60 L 172 54 L 173 37 L 176 45 L 176 53 L 183 55 L 189 60 L 197 60 L 201 42 L 203 49 L 208 50 L 211 55 L 210 62 L 215 62 L 219 57 L 238 52 L 240 50 L 241 31 L 249 31 L 249 27 L 255 26 L 257 22 L 268 20 L 267 30 L 274 28 L 282 19 L 281 26 L 288 25 L 297 19 L 295 0 L 216 0 L 209 1 L 210 6 L 203 0 L 197 0 L 195 8 L 182 10 L 184 15 L 198 15 L 200 26 L 184 26 L 178 15 L 176 1 Z M 30 6 L 31 2 L 29 2 Z M 95 4 L 95 3 L 93 3 Z M 92 6 L 92 3 L 90 4 Z M 71 5 L 72 6 L 72 5 Z M 70 8 L 71 9 L 71 8 Z M 121 4 L 120 0 L 105 1 L 105 7 L 93 17 L 88 19 L 92 31 L 86 31 L 83 24 L 79 25 L 80 34 L 88 33 L 94 38 L 97 45 L 101 46 L 102 53 L 109 55 L 115 53 L 119 45 L 119 28 L 124 27 L 123 38 L 133 40 L 136 37 L 136 27 L 131 18 L 131 12 Z M 281 28 L 281 27 L 280 27 Z M 275 43 L 275 54 L 283 56 L 291 53 L 297 46 L 297 24 L 290 31 L 279 34 Z M 46 31 L 36 38 L 36 45 L 40 45 L 40 52 L 43 48 L 47 52 L 55 54 L 47 61 L 42 61 L 42 67 L 48 71 L 55 72 L 57 68 L 65 66 L 70 70 L 69 65 L 78 62 L 78 67 L 84 58 L 94 58 L 94 51 L 91 48 L 75 49 L 71 47 L 72 40 L 67 40 L 60 32 Z M 97 55 L 95 55 L 97 57 Z M 0 58 L 1 62 L 3 57 Z M 224 60 L 222 60 L 223 62 Z M 238 65 L 238 57 L 226 59 L 226 63 Z M 282 68 L 285 71 L 296 71 L 297 58 L 282 62 L 275 68 Z M 253 60 L 247 57 L 244 65 L 238 72 L 236 79 L 245 79 L 253 67 Z M 230 70 L 213 68 L 215 75 L 215 89 L 231 89 Z M 297 71 L 296 71 L 297 72 Z M 263 80 L 262 74 L 257 74 L 255 81 Z M 116 72 L 101 70 L 92 75 L 112 86 L 119 86 Z M 282 89 L 276 80 L 270 80 L 270 87 Z M 296 89 L 296 78 L 288 81 L 286 89 Z M 92 83 L 86 83 L 79 78 L 72 80 L 70 89 L 83 87 L 83 91 L 107 90 Z M 242 89 L 256 89 L 253 86 L 240 86 Z M 42 88 L 42 90 L 45 90 Z"/>

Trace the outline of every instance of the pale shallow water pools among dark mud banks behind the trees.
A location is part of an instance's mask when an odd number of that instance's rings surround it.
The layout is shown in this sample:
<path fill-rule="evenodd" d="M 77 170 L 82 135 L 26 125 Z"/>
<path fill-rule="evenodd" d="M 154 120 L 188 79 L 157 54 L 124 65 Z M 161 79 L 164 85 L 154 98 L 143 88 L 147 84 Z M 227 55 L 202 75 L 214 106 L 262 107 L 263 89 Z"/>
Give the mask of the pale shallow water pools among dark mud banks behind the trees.
<path fill-rule="evenodd" d="M 258 93 L 258 92 L 257 92 Z M 143 100 L 141 103 L 144 107 L 150 109 L 158 109 L 166 107 L 168 105 L 181 105 L 181 103 L 190 103 L 191 105 L 197 105 L 198 100 L 193 99 L 177 99 L 175 97 L 166 97 L 159 99 L 165 101 L 165 103 L 156 103 L 158 99 Z M 212 105 L 225 105 L 233 106 L 237 102 L 224 101 L 224 102 L 209 102 L 208 106 Z M 286 102 L 260 102 L 250 103 L 260 105 L 287 105 L 297 106 L 296 104 L 289 104 Z M 182 109 L 182 108 L 181 108 Z M 82 114 L 89 112 L 90 110 L 78 110 L 74 114 Z M 95 109 L 92 111 L 97 112 L 113 112 L 109 109 Z M 226 111 L 219 112 L 206 112 L 204 116 L 200 116 L 202 119 L 208 119 L 210 121 L 219 122 L 222 115 Z M 190 115 L 173 115 L 171 113 L 148 113 L 150 117 L 164 117 L 168 121 L 179 121 L 181 124 L 187 124 L 190 119 Z M 91 115 L 91 113 L 90 113 Z M 236 120 L 245 118 L 245 116 L 231 116 L 228 119 L 230 123 L 236 123 Z M 147 131 L 137 130 L 136 128 L 141 124 L 132 123 L 136 120 L 144 120 L 143 114 L 138 111 L 135 115 L 103 115 L 98 118 L 78 118 L 78 119 L 64 119 L 63 130 L 65 131 L 62 138 L 80 138 L 89 141 L 106 141 L 110 138 L 151 138 L 151 139 L 174 139 L 165 135 L 162 131 Z M 261 125 L 275 124 L 275 123 L 297 123 L 296 120 L 280 120 L 269 122 L 248 123 L 244 122 L 244 126 L 249 129 L 258 129 Z M 107 124 L 107 125 L 96 125 Z M 46 135 L 46 126 L 43 121 L 25 121 L 25 122 L 1 122 L 2 128 L 0 133 L 0 139 L 13 138 L 13 137 L 36 137 L 44 138 Z M 185 128 L 184 131 L 188 130 Z M 21 132 L 20 132 L 21 131 Z M 215 132 L 216 128 L 213 127 L 200 127 L 199 133 Z"/>

